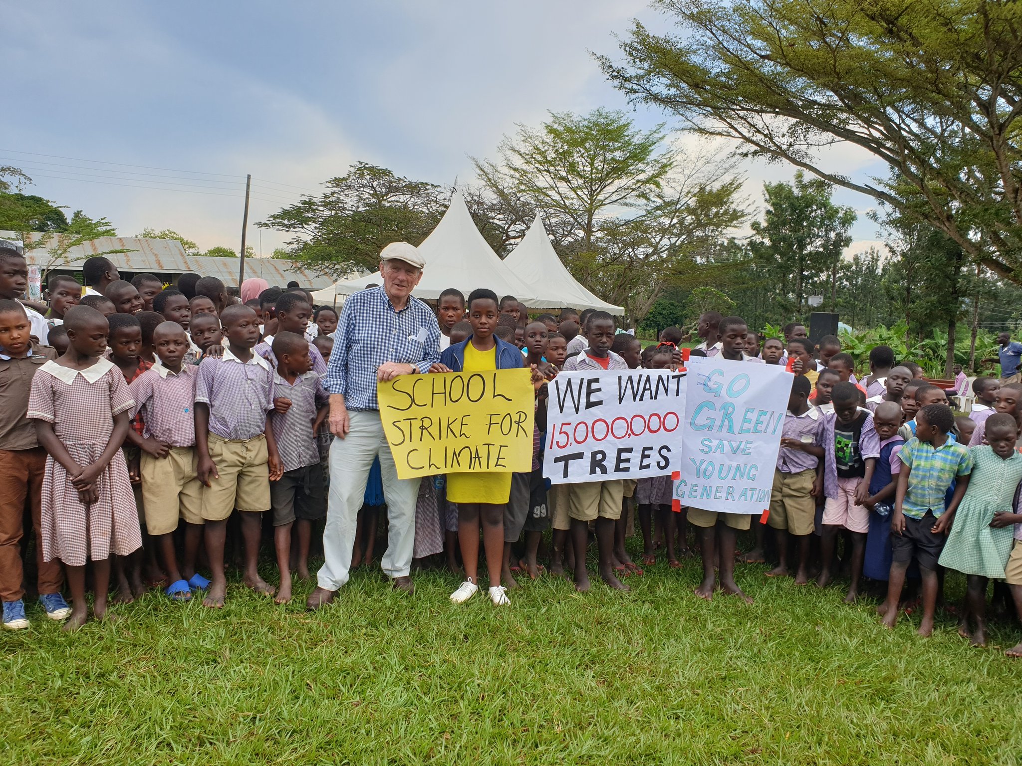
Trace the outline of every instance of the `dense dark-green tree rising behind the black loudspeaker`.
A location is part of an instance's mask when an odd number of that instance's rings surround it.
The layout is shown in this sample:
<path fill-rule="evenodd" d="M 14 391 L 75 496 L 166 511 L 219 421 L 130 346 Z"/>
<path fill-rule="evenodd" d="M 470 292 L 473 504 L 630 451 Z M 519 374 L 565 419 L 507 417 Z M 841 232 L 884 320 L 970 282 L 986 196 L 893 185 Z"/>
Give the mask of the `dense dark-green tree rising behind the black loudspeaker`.
<path fill-rule="evenodd" d="M 762 223 L 752 223 L 749 248 L 773 276 L 778 297 L 792 317 L 800 317 L 808 295 L 823 291 L 829 282 L 830 306 L 835 306 L 838 265 L 851 244 L 848 230 L 855 223 L 854 210 L 835 205 L 831 185 L 806 181 L 801 171 L 794 185 L 768 183 L 763 191 L 766 209 Z"/>

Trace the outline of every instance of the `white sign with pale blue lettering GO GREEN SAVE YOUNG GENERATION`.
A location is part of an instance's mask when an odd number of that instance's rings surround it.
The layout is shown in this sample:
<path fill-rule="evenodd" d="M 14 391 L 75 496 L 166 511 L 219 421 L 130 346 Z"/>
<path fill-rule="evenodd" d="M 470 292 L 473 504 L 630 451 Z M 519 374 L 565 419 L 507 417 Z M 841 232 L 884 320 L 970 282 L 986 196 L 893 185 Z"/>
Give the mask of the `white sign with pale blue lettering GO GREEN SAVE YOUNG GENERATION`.
<path fill-rule="evenodd" d="M 756 516 L 770 507 L 794 377 L 779 365 L 689 360 L 680 505 Z"/>

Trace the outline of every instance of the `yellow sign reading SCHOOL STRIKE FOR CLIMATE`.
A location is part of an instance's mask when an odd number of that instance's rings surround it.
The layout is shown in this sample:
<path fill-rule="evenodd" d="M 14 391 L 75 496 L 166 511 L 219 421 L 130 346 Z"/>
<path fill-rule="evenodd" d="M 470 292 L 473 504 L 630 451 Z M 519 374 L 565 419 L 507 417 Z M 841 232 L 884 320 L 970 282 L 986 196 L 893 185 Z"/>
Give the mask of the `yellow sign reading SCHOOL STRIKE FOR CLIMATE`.
<path fill-rule="evenodd" d="M 398 477 L 530 471 L 536 389 L 529 377 L 525 368 L 377 383 Z"/>

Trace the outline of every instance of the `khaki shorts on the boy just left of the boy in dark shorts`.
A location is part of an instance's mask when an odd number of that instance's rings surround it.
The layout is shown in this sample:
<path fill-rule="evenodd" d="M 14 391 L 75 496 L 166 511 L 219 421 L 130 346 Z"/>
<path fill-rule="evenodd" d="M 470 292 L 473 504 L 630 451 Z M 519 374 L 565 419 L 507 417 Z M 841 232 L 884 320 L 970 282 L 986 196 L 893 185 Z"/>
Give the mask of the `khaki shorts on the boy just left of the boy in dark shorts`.
<path fill-rule="evenodd" d="M 262 513 L 270 510 L 270 468 L 266 437 L 225 439 L 210 434 L 210 457 L 220 478 L 210 476 L 202 488 L 202 518 L 223 521 L 234 509 Z"/>

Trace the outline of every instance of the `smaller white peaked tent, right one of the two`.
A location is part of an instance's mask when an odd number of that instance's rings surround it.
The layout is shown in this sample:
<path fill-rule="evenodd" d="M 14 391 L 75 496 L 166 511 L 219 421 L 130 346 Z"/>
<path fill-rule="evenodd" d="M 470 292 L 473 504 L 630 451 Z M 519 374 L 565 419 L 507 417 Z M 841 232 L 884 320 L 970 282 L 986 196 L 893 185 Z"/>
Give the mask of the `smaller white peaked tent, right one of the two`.
<path fill-rule="evenodd" d="M 504 265 L 530 287 L 535 297 L 524 300 L 530 308 L 597 308 L 618 316 L 624 314 L 621 306 L 600 300 L 571 276 L 550 244 L 540 213 L 536 213 L 536 221 Z"/>

